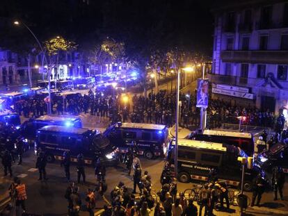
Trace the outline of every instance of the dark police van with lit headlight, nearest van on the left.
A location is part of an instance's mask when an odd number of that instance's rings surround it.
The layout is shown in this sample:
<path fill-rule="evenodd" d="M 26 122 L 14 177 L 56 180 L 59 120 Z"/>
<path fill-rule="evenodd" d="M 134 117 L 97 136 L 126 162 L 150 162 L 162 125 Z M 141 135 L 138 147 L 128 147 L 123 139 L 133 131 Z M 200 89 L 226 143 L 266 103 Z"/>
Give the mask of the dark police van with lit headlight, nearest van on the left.
<path fill-rule="evenodd" d="M 117 149 L 98 131 L 88 128 L 73 128 L 47 125 L 37 131 L 35 153 L 45 151 L 47 162 L 63 160 L 63 153 L 70 151 L 71 160 L 77 162 L 77 155 L 82 153 L 85 163 L 94 164 L 102 156 L 107 165 L 118 161 Z"/>

